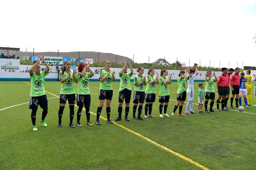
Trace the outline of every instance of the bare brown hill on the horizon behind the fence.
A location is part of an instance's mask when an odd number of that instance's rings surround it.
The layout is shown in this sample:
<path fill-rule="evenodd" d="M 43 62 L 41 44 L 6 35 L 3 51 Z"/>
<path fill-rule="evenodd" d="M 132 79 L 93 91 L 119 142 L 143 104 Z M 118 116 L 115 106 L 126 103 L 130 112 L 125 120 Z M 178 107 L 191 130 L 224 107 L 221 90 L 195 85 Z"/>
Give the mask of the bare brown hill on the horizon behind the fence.
<path fill-rule="evenodd" d="M 7 55 L 7 51 L 3 51 L 1 53 L 4 53 L 4 55 Z M 20 56 L 20 59 L 22 59 L 23 55 L 33 55 L 33 52 L 24 52 L 24 51 L 9 51 L 10 54 L 16 54 L 16 56 Z M 34 55 L 40 55 L 44 54 L 45 56 L 51 56 L 51 57 L 57 57 L 58 52 L 35 52 Z M 116 54 L 112 53 L 102 53 L 102 52 L 93 52 L 93 51 L 80 51 L 80 54 L 78 51 L 76 52 L 59 52 L 59 57 L 71 57 L 71 58 L 87 58 L 87 59 L 93 59 L 93 61 L 105 61 L 109 59 L 111 62 L 116 61 Z M 123 62 L 123 61 L 129 61 L 130 59 L 125 56 L 117 55 L 117 62 Z"/>

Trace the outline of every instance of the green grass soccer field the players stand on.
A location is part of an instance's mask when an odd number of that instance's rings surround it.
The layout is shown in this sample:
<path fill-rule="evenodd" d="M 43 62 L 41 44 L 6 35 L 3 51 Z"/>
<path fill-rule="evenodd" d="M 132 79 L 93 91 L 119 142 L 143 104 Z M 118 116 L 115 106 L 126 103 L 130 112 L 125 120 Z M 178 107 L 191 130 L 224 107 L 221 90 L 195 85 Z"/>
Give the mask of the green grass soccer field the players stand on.
<path fill-rule="evenodd" d="M 43 127 L 39 122 L 42 112 L 39 107 L 36 118 L 38 131 L 33 131 L 31 110 L 28 109 L 29 103 L 27 103 L 30 100 L 30 85 L 27 83 L 0 82 L 0 109 L 22 104 L 0 111 L 0 169 L 256 168 L 256 107 L 245 109 L 246 112 L 229 110 L 228 112 L 196 113 L 186 116 L 176 114 L 174 117 L 160 118 L 159 103 L 156 98 L 152 110 L 152 115 L 156 117 L 139 121 L 132 119 L 132 94 L 128 116 L 130 122 L 122 119 L 117 123 L 184 156 L 178 157 L 140 135 L 117 124 L 109 124 L 102 118 L 100 118 L 101 126 L 96 125 L 96 116 L 92 113 L 91 122 L 94 126 L 87 126 L 84 110 L 81 116 L 82 127 L 70 128 L 68 126 L 68 105 L 63 112 L 63 127 L 59 128 L 59 98 L 56 96 L 59 96 L 60 82 L 45 83 L 45 90 L 53 94 L 46 93 L 47 98 L 51 98 L 48 99 L 48 115 L 45 119 L 48 127 Z M 194 103 L 197 103 L 198 82 L 194 84 Z M 99 82 L 90 82 L 90 86 L 90 111 L 95 113 L 99 105 Z M 77 85 L 75 88 L 77 91 Z M 157 92 L 159 88 L 158 85 Z M 118 116 L 119 82 L 113 83 L 113 89 L 110 116 L 112 121 Z M 133 89 L 132 87 L 132 92 Z M 167 113 L 171 115 L 176 103 L 177 82 L 169 85 L 169 90 L 170 102 Z M 256 104 L 255 96 L 251 97 L 252 105 Z M 124 107 L 123 105 L 123 114 Z M 185 108 L 186 103 L 183 112 Z M 74 124 L 77 109 L 75 107 Z M 196 104 L 193 110 L 198 112 Z M 106 118 L 105 105 L 101 116 Z M 187 161 L 187 158 L 205 168 Z"/>

